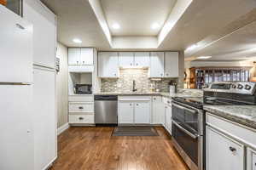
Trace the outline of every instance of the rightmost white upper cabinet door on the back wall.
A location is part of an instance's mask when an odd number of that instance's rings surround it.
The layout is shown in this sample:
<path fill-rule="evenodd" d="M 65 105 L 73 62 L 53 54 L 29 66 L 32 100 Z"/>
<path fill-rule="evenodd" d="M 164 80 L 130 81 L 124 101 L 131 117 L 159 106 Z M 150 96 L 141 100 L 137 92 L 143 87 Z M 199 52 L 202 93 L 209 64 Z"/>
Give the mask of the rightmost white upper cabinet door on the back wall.
<path fill-rule="evenodd" d="M 165 77 L 178 77 L 178 53 L 165 53 Z"/>

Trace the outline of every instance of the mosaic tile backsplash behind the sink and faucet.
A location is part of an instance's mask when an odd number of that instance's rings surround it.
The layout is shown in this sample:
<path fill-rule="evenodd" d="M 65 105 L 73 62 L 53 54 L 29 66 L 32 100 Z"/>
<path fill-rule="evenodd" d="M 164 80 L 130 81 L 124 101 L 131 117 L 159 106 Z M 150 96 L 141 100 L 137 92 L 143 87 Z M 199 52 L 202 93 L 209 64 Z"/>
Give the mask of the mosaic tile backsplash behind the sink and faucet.
<path fill-rule="evenodd" d="M 132 91 L 132 81 L 135 80 L 137 92 L 146 93 L 151 88 L 158 88 L 160 92 L 169 92 L 168 83 L 177 78 L 162 78 L 151 80 L 148 78 L 148 69 L 120 69 L 119 78 L 102 78 L 102 92 L 123 92 Z"/>

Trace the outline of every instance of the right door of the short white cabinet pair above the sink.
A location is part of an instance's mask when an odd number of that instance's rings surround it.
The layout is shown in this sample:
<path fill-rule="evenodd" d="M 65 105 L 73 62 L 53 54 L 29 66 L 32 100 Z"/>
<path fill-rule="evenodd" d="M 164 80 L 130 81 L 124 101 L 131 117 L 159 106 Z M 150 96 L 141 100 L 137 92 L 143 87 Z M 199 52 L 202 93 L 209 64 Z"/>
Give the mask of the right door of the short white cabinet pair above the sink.
<path fill-rule="evenodd" d="M 134 65 L 149 67 L 149 52 L 136 52 L 134 54 Z"/>

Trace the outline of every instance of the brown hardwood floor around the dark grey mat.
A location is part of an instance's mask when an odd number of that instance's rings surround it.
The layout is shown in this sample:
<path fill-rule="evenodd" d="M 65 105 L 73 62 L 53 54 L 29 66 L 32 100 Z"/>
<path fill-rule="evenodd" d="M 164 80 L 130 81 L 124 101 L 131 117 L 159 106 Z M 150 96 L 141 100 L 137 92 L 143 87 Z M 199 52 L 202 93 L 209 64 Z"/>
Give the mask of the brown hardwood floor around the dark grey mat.
<path fill-rule="evenodd" d="M 163 127 L 157 137 L 113 137 L 113 127 L 70 127 L 50 170 L 188 170 Z"/>

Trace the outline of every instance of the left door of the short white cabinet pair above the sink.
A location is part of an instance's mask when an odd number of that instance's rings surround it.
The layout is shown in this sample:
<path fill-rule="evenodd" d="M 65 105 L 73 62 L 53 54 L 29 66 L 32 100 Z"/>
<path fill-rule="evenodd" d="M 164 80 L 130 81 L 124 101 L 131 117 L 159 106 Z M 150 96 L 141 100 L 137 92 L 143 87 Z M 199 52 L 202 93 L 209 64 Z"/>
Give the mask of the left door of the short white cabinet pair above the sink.
<path fill-rule="evenodd" d="M 119 66 L 120 67 L 131 67 L 133 65 L 134 65 L 133 52 L 119 52 Z"/>

